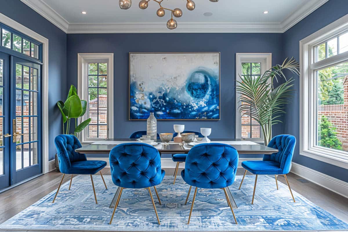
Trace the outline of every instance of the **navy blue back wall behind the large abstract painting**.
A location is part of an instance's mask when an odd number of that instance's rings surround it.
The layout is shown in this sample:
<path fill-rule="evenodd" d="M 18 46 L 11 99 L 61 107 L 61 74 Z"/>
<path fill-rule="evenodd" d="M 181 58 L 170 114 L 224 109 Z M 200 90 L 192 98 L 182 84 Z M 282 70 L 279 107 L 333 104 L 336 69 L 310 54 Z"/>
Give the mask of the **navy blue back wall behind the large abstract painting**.
<path fill-rule="evenodd" d="M 146 121 L 128 120 L 129 52 L 221 52 L 221 120 L 158 121 L 157 130 L 174 132 L 173 124 L 188 130 L 211 127 L 211 137 L 235 137 L 236 53 L 272 53 L 272 63 L 282 62 L 282 34 L 68 34 L 67 88 L 77 85 L 77 53 L 114 53 L 114 137 L 146 130 Z M 274 127 L 274 134 L 282 125 Z"/>

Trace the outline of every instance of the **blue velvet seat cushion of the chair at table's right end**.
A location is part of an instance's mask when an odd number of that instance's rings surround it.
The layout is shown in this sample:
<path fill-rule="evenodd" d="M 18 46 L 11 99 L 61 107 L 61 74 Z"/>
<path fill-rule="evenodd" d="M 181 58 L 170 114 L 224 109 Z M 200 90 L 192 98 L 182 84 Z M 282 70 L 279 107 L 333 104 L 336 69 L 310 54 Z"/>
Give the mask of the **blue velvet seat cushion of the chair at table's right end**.
<path fill-rule="evenodd" d="M 252 160 L 242 162 L 243 168 L 250 171 L 252 174 L 260 175 L 283 174 L 283 170 L 280 169 L 279 166 L 280 164 L 275 161 Z"/>

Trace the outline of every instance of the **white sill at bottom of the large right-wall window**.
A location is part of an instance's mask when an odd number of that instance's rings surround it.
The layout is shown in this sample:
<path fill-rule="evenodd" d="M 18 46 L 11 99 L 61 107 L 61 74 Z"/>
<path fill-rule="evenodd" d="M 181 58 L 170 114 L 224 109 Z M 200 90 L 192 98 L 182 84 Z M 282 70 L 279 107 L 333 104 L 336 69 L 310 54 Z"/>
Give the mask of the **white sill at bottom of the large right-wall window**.
<path fill-rule="evenodd" d="M 301 151 L 300 155 L 348 169 L 348 155 L 342 155 L 341 152 L 311 147 L 308 150 Z"/>

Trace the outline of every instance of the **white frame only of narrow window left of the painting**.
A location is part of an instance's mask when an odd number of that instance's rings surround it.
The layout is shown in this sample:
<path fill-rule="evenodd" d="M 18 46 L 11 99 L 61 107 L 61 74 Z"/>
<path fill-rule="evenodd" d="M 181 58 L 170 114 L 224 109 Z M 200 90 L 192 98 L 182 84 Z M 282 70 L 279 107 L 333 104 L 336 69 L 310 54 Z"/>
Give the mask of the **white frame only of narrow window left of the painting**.
<path fill-rule="evenodd" d="M 107 129 L 108 138 L 113 138 L 113 53 L 78 53 L 77 65 L 77 94 L 81 99 L 88 101 L 88 63 L 108 63 L 107 72 Z M 82 121 L 88 118 L 88 106 Z M 88 129 L 84 129 L 79 135 L 81 143 L 92 143 L 102 138 L 88 138 Z"/>

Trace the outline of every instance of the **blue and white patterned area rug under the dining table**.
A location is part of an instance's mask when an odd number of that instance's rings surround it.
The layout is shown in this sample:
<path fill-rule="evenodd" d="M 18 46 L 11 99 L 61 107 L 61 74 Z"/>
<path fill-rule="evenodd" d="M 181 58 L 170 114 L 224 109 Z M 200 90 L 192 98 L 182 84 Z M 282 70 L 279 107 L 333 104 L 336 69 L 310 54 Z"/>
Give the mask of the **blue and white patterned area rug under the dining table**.
<path fill-rule="evenodd" d="M 125 189 L 109 225 L 113 209 L 109 208 L 117 187 L 111 176 L 104 176 L 105 190 L 100 176 L 94 176 L 98 204 L 95 204 L 89 176 L 73 178 L 62 185 L 55 203 L 55 191 L 0 225 L 0 229 L 24 230 L 102 230 L 102 231 L 330 231 L 348 230 L 348 224 L 319 208 L 302 195 L 293 191 L 292 201 L 288 187 L 272 176 L 259 176 L 254 205 L 251 199 L 254 176 L 246 176 L 238 190 L 242 176 L 237 176 L 230 190 L 237 203 L 235 209 L 238 225 L 227 205 L 222 190 L 199 189 L 193 207 L 190 225 L 187 225 L 193 197 L 184 205 L 189 186 L 180 176 L 173 185 L 173 177 L 165 176 L 158 194 L 153 188 L 161 225 L 157 224 L 155 211 L 146 189 Z"/>

